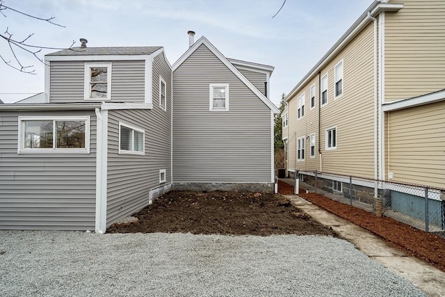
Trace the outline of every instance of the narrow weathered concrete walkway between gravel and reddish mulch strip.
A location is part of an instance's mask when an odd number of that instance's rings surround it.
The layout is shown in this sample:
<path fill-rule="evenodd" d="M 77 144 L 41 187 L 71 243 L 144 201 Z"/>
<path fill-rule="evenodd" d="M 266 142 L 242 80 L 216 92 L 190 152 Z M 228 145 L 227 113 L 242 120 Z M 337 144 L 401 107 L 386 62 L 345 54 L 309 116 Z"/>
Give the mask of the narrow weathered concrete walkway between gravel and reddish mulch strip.
<path fill-rule="evenodd" d="M 293 181 L 293 179 L 291 179 Z M 300 188 L 303 184 L 300 184 Z M 401 250 L 389 246 L 380 237 L 371 234 L 348 220 L 331 214 L 321 207 L 297 195 L 284 195 L 291 203 L 305 211 L 323 225 L 332 227 L 344 239 L 353 243 L 371 259 L 385 266 L 389 271 L 409 280 L 430 296 L 445 296 L 445 273 Z"/>

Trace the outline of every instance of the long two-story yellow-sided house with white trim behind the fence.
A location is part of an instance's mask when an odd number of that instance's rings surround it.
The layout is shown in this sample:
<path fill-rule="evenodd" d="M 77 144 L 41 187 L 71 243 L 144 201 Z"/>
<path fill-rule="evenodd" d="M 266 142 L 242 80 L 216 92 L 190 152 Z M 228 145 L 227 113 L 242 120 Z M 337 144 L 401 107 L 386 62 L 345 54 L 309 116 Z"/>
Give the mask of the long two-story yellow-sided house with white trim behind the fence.
<path fill-rule="evenodd" d="M 288 172 L 444 189 L 444 16 L 443 0 L 371 3 L 285 98 Z"/>

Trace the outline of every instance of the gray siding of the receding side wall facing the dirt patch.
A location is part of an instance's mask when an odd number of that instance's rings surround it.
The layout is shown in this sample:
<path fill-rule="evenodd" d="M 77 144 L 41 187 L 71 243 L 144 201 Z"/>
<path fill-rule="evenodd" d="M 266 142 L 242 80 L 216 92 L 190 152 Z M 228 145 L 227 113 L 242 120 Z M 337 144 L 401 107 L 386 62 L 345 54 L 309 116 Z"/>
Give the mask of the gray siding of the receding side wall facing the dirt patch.
<path fill-rule="evenodd" d="M 153 109 L 108 111 L 107 226 L 148 204 L 149 190 L 171 180 L 171 70 L 156 56 L 153 63 Z M 159 74 L 167 85 L 167 111 L 159 107 Z M 145 156 L 118 154 L 119 122 L 145 131 Z M 166 182 L 159 183 L 165 169 Z"/>

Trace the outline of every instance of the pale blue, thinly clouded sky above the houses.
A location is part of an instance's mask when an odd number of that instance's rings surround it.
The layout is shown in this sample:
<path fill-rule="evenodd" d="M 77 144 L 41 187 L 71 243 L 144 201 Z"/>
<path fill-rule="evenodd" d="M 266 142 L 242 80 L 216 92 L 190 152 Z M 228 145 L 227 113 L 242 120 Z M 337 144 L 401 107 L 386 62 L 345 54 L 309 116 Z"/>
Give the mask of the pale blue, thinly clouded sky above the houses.
<path fill-rule="evenodd" d="M 204 35 L 228 58 L 272 65 L 270 99 L 279 104 L 327 50 L 371 5 L 372 0 L 243 1 L 84 1 L 3 0 L 24 13 L 56 17 L 54 26 L 10 10 L 0 15 L 0 33 L 8 28 L 13 39 L 31 45 L 66 48 L 73 40 L 88 39 L 88 47 L 163 46 L 171 64 L 188 49 L 188 30 L 195 40 Z M 44 49 L 38 56 L 55 51 Z M 14 63 L 7 42 L 0 54 Z M 13 103 L 44 91 L 44 65 L 15 49 L 23 65 L 34 65 L 36 75 L 20 73 L 0 61 L 0 99 Z"/>

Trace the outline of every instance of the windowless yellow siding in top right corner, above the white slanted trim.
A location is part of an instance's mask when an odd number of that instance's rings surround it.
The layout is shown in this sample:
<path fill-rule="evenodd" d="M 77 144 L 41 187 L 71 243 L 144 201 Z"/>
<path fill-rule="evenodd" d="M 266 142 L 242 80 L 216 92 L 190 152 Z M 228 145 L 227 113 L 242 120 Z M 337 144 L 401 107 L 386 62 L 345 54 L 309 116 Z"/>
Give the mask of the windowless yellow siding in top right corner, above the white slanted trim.
<path fill-rule="evenodd" d="M 445 1 L 394 0 L 385 13 L 385 101 L 445 88 Z"/>

